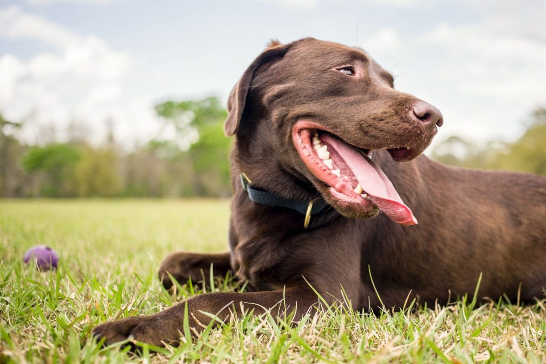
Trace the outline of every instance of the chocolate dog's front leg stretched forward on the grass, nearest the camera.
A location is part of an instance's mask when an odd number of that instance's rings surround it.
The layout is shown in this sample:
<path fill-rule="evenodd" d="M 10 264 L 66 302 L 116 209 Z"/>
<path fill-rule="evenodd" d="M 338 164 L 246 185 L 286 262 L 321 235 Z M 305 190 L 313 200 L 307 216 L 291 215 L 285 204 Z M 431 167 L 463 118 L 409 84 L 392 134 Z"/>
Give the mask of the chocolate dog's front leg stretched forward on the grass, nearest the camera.
<path fill-rule="evenodd" d="M 183 332 L 186 305 L 189 327 L 200 331 L 212 320 L 201 312 L 215 314 L 225 322 L 232 313 L 241 315 L 244 310 L 253 310 L 254 314 L 260 314 L 264 309 L 273 308 L 271 314 L 277 316 L 286 308 L 287 313 L 295 311 L 295 318 L 298 319 L 316 303 L 317 295 L 306 285 L 275 291 L 207 293 L 191 297 L 151 316 L 128 317 L 103 323 L 93 329 L 93 336 L 104 337 L 106 344 L 134 338 L 158 347 L 162 347 L 164 343 L 176 345 Z"/>

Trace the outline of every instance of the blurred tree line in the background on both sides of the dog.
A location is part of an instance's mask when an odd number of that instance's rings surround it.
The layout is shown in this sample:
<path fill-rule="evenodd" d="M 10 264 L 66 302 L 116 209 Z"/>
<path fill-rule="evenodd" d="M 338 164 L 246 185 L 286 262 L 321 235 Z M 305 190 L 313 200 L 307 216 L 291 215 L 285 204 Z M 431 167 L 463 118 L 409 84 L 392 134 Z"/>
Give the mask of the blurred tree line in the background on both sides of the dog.
<path fill-rule="evenodd" d="M 0 197 L 225 197 L 231 193 L 223 134 L 227 111 L 217 98 L 168 101 L 155 106 L 162 129 L 130 152 L 114 135 L 93 146 L 85 138 L 29 145 L 18 138 L 23 123 L 0 115 Z M 436 145 L 431 157 L 467 168 L 546 176 L 546 108 L 532 112 L 514 142 L 476 145 L 458 136 Z"/>

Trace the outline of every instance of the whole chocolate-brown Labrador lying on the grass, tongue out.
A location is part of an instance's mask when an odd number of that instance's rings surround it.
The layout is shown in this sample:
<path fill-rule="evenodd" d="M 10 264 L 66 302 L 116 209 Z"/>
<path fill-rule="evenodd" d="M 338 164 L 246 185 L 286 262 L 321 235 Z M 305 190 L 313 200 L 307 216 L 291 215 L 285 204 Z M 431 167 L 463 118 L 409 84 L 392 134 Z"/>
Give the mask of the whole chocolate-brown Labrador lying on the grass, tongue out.
<path fill-rule="evenodd" d="M 166 272 L 195 280 L 213 264 L 253 291 L 194 296 L 150 317 L 104 323 L 94 335 L 176 344 L 186 304 L 198 330 L 197 321 L 210 322 L 200 311 L 227 319 L 242 303 L 261 313 L 284 299 L 297 318 L 318 308 L 310 285 L 328 302 L 344 291 L 354 309 L 374 310 L 371 278 L 388 308 L 408 295 L 446 303 L 472 293 L 480 273 L 480 297 L 544 297 L 546 180 L 417 157 L 440 111 L 395 91 L 393 76 L 365 52 L 274 41 L 245 71 L 228 110 L 225 133 L 236 135 L 231 251 L 176 253 L 159 275 L 170 287 Z"/>

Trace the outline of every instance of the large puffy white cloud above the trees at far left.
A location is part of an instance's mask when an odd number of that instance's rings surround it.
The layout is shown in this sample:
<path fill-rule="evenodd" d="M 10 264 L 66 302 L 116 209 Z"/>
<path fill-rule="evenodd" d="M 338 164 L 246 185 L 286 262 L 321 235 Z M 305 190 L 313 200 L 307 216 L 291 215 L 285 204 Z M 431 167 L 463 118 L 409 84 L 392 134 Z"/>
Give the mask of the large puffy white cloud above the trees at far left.
<path fill-rule="evenodd" d="M 133 59 L 94 35 L 81 35 L 19 8 L 0 10 L 0 37 L 34 39 L 52 50 L 23 61 L 0 56 L 0 111 L 13 120 L 28 120 L 34 130 L 55 123 L 64 130 L 72 121 L 93 124 L 99 140 L 105 121 L 116 121 L 117 134 L 128 139 L 150 135 L 158 125 L 150 98 L 127 96 L 126 79 Z M 62 138 L 62 135 L 60 135 Z"/>

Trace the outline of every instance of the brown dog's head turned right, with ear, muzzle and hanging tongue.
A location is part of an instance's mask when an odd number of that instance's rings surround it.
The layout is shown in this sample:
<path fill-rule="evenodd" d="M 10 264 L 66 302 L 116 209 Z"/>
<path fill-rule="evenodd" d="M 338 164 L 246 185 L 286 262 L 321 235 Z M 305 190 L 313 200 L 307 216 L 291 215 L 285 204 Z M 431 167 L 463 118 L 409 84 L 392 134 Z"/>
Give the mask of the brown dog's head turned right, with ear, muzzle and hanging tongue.
<path fill-rule="evenodd" d="M 258 135 L 268 139 L 265 148 L 260 141 L 262 150 L 310 181 L 344 216 L 381 210 L 412 225 L 417 220 L 371 152 L 411 160 L 443 121 L 434 106 L 396 91 L 393 81 L 363 50 L 312 38 L 274 41 L 233 89 L 224 130 L 237 134 L 247 153 L 258 148 Z"/>

